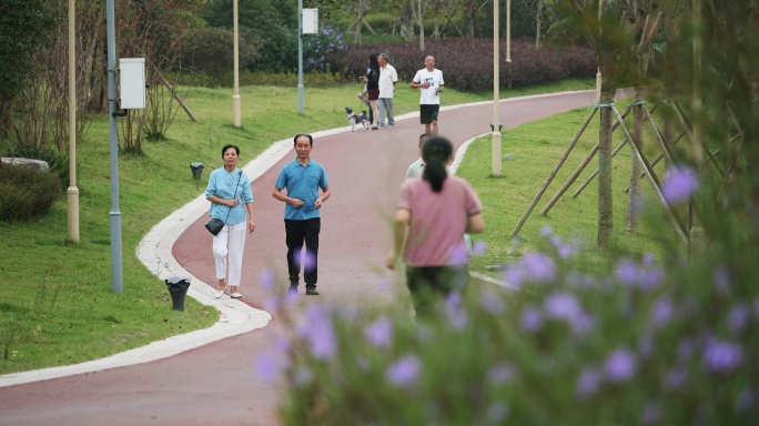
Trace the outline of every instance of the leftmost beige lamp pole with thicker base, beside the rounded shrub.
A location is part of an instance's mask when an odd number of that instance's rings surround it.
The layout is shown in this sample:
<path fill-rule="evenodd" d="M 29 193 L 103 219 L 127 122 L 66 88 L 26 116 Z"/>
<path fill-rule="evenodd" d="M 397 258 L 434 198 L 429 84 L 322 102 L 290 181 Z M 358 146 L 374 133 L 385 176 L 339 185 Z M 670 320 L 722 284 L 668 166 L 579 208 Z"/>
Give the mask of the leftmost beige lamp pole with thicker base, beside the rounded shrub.
<path fill-rule="evenodd" d="M 77 187 L 77 67 L 74 44 L 75 0 L 69 0 L 69 240 L 79 243 L 79 189 Z"/>

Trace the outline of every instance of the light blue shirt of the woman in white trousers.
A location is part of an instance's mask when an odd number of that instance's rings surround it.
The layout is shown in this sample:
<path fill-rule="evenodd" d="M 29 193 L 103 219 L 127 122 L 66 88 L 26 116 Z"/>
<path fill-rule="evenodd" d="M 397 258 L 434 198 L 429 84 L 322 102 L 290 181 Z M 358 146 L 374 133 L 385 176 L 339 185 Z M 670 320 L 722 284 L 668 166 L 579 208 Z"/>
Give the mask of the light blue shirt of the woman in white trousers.
<path fill-rule="evenodd" d="M 224 168 L 219 168 L 211 172 L 209 186 L 205 187 L 205 197 L 216 195 L 224 200 L 236 197 L 241 202 L 230 209 L 223 204 L 211 203 L 209 215 L 211 217 L 226 220 L 224 223 L 234 225 L 245 221 L 245 204 L 253 202 L 253 191 L 251 180 L 247 174 L 240 169 L 234 169 L 231 173 Z M 229 213 L 229 217 L 226 216 Z"/>

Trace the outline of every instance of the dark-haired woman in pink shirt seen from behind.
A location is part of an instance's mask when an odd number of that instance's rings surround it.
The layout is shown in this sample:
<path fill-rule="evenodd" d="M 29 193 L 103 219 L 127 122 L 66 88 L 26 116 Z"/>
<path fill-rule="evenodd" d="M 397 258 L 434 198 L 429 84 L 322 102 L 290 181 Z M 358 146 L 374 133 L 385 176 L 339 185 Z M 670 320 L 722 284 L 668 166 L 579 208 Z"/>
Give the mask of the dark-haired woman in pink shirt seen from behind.
<path fill-rule="evenodd" d="M 422 179 L 406 180 L 395 213 L 393 247 L 385 266 L 395 268 L 404 241 L 406 285 L 417 317 L 429 317 L 452 292 L 468 282 L 464 233 L 485 230 L 479 197 L 465 180 L 448 175 L 453 145 L 441 136 L 423 145 Z M 408 234 L 408 235 L 406 235 Z"/>

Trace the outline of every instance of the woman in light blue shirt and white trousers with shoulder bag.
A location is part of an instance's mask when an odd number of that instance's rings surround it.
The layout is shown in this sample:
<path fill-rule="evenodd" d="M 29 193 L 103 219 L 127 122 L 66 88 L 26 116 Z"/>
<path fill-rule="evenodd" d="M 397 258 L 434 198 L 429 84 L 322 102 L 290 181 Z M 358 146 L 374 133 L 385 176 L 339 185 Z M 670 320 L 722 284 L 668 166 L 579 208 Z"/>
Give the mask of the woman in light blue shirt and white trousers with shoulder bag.
<path fill-rule="evenodd" d="M 255 231 L 253 190 L 247 174 L 237 169 L 240 148 L 222 148 L 224 166 L 211 172 L 205 199 L 211 202 L 209 215 L 224 221 L 224 227 L 213 236 L 213 258 L 219 284 L 214 297 L 221 298 L 229 285 L 230 296 L 240 298 L 237 291 L 242 277 L 242 257 L 245 250 L 245 231 Z M 247 216 L 247 220 L 246 220 Z M 229 271 L 226 267 L 229 260 Z"/>

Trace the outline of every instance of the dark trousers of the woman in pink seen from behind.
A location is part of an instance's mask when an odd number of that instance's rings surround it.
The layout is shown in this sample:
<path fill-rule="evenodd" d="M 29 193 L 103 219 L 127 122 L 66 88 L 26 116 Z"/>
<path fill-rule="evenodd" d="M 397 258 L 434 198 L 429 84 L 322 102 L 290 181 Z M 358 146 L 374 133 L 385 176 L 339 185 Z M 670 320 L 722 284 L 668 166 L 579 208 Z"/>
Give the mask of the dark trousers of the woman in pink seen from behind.
<path fill-rule="evenodd" d="M 406 266 L 406 285 L 417 317 L 432 316 L 452 292 L 463 293 L 468 281 L 466 265 Z"/>

